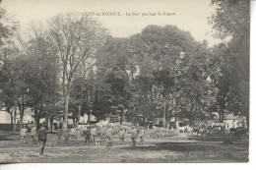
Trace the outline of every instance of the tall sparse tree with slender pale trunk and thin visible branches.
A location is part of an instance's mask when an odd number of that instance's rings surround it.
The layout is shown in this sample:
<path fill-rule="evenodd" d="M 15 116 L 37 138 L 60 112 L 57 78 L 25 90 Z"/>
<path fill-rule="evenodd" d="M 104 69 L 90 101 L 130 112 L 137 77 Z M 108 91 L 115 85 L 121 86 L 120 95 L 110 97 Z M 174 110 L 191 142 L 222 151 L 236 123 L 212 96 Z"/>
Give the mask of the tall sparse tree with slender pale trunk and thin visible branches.
<path fill-rule="evenodd" d="M 104 42 L 105 30 L 96 21 L 76 14 L 59 15 L 49 23 L 51 43 L 57 48 L 62 67 L 64 131 L 67 129 L 70 87 L 79 66 L 90 69 L 96 50 Z"/>

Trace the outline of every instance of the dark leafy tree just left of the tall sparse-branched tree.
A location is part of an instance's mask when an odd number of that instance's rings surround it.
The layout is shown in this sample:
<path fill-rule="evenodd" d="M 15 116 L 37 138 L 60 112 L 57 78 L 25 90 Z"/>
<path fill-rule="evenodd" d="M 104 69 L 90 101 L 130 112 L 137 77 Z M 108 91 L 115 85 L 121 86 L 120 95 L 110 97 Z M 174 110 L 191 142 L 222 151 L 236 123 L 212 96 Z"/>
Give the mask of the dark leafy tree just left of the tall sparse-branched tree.
<path fill-rule="evenodd" d="M 59 65 L 57 53 L 49 41 L 42 36 L 34 37 L 28 44 L 30 76 L 28 105 L 34 111 L 36 128 L 40 118 L 50 118 L 57 112 L 59 101 Z"/>

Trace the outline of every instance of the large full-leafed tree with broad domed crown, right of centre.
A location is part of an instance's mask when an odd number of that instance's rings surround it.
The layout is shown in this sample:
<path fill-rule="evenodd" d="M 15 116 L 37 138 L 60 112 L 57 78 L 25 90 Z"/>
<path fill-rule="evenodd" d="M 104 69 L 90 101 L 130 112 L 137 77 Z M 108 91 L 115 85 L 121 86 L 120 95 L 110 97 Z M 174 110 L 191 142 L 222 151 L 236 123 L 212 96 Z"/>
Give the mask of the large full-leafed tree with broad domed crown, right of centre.
<path fill-rule="evenodd" d="M 149 26 L 130 40 L 133 63 L 137 65 L 138 102 L 157 103 L 163 126 L 167 126 L 170 117 L 181 112 L 181 98 L 189 98 L 183 99 L 183 105 L 197 102 L 197 108 L 193 106 L 190 114 L 195 109 L 201 112 L 203 98 L 209 99 L 204 92 L 210 87 L 206 69 L 211 52 L 207 44 L 196 42 L 189 32 L 174 26 Z M 190 85 L 186 85 L 187 82 Z M 200 93 L 195 94 L 195 91 Z M 192 94 L 197 95 L 197 100 Z M 140 114 L 151 113 L 145 110 Z"/>

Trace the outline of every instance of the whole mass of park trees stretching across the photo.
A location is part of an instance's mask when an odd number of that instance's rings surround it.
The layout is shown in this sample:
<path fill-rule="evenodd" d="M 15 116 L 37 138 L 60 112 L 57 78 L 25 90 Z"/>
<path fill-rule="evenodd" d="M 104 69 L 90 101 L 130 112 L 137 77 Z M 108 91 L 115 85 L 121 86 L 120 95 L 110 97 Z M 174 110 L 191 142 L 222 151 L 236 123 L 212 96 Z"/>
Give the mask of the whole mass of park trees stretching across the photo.
<path fill-rule="evenodd" d="M 107 35 L 96 20 L 67 13 L 17 35 L 12 18 L 0 9 L 0 94 L 13 116 L 25 108 L 40 118 L 68 115 L 147 125 L 188 120 L 196 126 L 218 112 L 245 115 L 249 105 L 249 1 L 212 0 L 209 19 L 227 43 L 209 47 L 176 26 L 150 25 L 126 38 Z M 239 48 L 238 48 L 239 47 Z M 14 109 L 12 113 L 11 108 Z M 186 122 L 186 121 L 185 121 Z M 89 122 L 90 123 L 90 120 Z"/>

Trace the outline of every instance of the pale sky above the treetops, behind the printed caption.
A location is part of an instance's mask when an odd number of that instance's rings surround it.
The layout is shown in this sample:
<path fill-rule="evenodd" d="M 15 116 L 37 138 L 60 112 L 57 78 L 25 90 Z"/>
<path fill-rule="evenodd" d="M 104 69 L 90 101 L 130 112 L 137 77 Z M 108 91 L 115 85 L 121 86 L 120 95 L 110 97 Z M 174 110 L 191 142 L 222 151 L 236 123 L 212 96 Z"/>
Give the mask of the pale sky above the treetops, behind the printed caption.
<path fill-rule="evenodd" d="M 15 15 L 22 29 L 58 14 L 90 15 L 95 12 L 100 16 L 94 18 L 114 37 L 128 37 L 148 25 L 175 25 L 190 31 L 197 41 L 206 39 L 209 46 L 221 42 L 212 36 L 212 26 L 208 24 L 208 17 L 215 11 L 210 0 L 2 0 L 1 6 L 10 15 Z M 102 16 L 107 12 L 120 13 L 120 16 Z M 139 16 L 127 16 L 132 13 L 139 13 Z M 142 16 L 143 13 L 161 16 Z"/>

